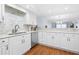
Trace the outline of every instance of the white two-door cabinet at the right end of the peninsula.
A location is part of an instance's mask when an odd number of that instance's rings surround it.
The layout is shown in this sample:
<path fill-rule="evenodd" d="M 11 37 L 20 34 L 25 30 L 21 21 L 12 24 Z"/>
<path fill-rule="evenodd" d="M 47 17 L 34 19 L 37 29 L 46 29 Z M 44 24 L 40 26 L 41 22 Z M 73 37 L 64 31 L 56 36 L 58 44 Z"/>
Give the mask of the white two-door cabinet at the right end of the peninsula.
<path fill-rule="evenodd" d="M 70 34 L 70 33 L 66 33 L 63 35 L 62 37 L 63 39 L 61 40 L 61 47 L 63 49 L 66 50 L 70 50 L 73 52 L 79 52 L 79 34 Z"/>

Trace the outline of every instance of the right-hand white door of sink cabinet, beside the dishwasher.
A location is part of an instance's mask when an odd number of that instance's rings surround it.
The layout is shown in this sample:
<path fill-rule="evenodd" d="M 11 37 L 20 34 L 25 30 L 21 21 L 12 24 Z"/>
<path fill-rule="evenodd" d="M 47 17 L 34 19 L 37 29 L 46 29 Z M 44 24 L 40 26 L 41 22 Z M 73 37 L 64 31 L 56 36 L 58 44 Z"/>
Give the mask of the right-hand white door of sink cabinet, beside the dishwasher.
<path fill-rule="evenodd" d="M 31 48 L 31 37 L 29 34 L 23 35 L 21 39 L 21 52 L 26 53 Z"/>

